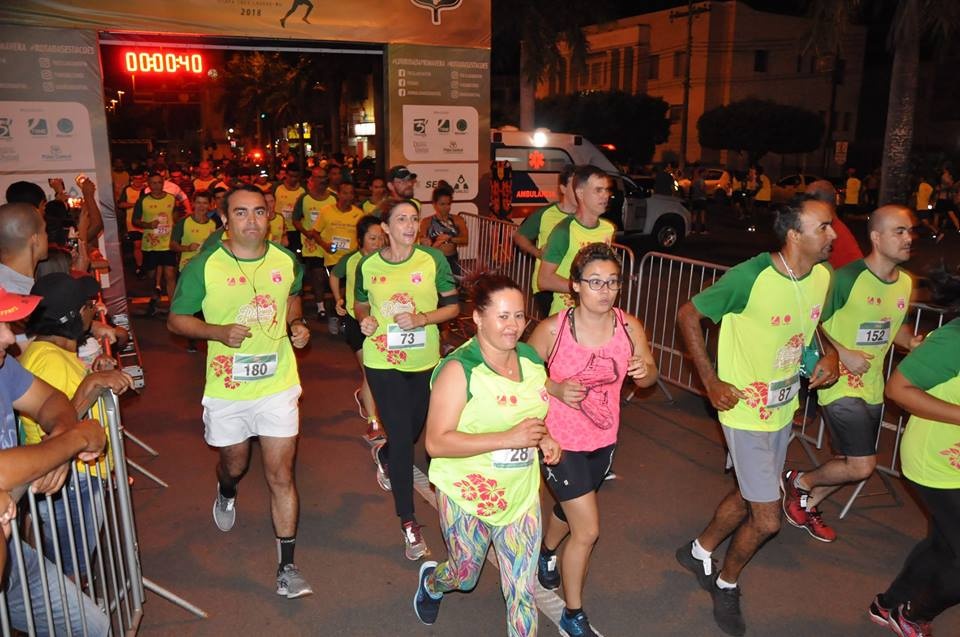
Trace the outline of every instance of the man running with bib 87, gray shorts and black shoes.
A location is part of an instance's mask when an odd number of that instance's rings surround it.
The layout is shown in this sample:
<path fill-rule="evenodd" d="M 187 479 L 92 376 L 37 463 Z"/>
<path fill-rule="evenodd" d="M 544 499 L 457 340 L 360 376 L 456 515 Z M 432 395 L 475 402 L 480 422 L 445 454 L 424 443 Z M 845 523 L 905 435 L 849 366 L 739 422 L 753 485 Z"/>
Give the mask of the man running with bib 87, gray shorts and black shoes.
<path fill-rule="evenodd" d="M 676 552 L 713 598 L 713 617 L 722 631 L 743 635 L 740 572 L 780 530 L 780 474 L 800 391 L 837 380 L 837 352 L 817 337 L 830 286 L 830 255 L 836 234 L 830 209 L 803 200 L 778 211 L 774 233 L 781 248 L 734 266 L 677 313 L 690 357 L 718 410 L 737 486 L 717 507 L 709 525 Z M 717 368 L 707 355 L 700 321 L 720 324 Z M 722 322 L 721 322 L 722 319 Z M 813 343 L 822 356 L 814 364 Z M 713 552 L 728 537 L 720 568 Z"/>

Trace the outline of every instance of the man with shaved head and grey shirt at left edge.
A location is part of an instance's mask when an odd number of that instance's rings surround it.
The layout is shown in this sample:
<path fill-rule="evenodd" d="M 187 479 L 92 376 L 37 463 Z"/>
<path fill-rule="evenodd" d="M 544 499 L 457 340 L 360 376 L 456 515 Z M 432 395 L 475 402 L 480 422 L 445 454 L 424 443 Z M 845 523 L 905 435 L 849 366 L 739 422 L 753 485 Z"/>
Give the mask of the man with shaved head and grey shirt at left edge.
<path fill-rule="evenodd" d="M 37 264 L 47 258 L 47 224 L 28 203 L 0 206 L 0 287 L 29 294 Z"/>

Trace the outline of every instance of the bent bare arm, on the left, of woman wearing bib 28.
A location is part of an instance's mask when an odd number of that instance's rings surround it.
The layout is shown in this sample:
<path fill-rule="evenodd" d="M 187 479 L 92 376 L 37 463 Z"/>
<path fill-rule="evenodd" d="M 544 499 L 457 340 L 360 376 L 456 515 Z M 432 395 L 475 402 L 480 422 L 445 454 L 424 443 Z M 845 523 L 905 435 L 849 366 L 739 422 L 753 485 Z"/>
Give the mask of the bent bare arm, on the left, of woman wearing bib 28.
<path fill-rule="evenodd" d="M 457 431 L 467 404 L 467 379 L 459 362 L 443 366 L 430 394 L 427 452 L 434 458 L 468 458 L 497 449 L 534 447 L 547 435 L 539 418 L 526 418 L 506 431 L 468 434 Z"/>

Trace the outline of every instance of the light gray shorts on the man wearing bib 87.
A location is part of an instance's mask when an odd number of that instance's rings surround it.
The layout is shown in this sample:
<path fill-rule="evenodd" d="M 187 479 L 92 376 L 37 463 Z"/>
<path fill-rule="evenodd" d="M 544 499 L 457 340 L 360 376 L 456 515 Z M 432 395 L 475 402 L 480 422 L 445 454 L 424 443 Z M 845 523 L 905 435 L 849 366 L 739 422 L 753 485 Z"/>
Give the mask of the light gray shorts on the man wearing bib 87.
<path fill-rule="evenodd" d="M 725 425 L 721 428 L 743 499 L 747 502 L 779 500 L 780 474 L 793 428 L 789 424 L 779 431 L 747 431 Z"/>

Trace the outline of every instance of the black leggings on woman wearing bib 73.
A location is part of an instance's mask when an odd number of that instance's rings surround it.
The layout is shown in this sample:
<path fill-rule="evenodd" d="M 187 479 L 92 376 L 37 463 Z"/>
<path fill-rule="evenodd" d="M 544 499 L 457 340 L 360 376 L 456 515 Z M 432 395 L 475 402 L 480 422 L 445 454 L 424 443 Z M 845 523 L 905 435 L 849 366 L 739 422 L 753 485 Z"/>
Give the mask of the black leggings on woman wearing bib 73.
<path fill-rule="evenodd" d="M 423 432 L 430 405 L 432 369 L 402 372 L 396 369 L 364 367 L 373 400 L 380 412 L 380 424 L 387 432 L 387 444 L 380 452 L 387 461 L 387 474 L 400 522 L 413 516 L 413 445 Z"/>

